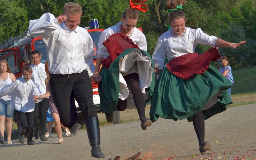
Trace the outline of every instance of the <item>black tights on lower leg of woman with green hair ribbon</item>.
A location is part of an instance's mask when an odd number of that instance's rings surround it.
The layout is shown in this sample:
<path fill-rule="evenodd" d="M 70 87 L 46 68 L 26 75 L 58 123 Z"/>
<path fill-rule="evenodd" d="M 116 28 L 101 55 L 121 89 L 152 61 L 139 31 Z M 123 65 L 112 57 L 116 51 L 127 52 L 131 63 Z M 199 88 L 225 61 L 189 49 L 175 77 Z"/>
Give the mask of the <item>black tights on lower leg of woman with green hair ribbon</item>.
<path fill-rule="evenodd" d="M 202 110 L 198 111 L 193 116 L 193 125 L 200 145 L 202 142 L 204 142 L 204 114 Z"/>

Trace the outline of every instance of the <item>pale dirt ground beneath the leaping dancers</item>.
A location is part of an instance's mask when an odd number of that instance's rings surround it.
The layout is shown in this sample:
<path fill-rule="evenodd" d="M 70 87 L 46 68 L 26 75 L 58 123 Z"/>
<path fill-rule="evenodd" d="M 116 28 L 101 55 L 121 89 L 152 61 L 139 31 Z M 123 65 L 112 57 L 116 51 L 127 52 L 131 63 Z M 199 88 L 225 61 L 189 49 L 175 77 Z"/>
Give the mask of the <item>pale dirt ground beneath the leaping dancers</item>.
<path fill-rule="evenodd" d="M 149 106 L 146 107 L 147 114 Z M 121 112 L 130 118 L 137 118 L 136 110 Z M 199 145 L 193 123 L 187 120 L 159 118 L 146 131 L 142 131 L 140 121 L 100 127 L 101 149 L 104 159 L 122 159 L 133 156 L 142 149 L 139 158 L 160 159 L 244 159 L 256 160 L 256 104 L 240 105 L 205 120 L 205 140 L 212 143 L 205 155 L 199 152 Z M 100 118 L 105 118 L 99 114 Z M 123 117 L 123 118 L 122 118 Z M 55 144 L 56 134 L 48 141 L 34 140 L 36 145 L 21 145 L 12 140 L 12 145 L 0 145 L 0 159 L 95 159 L 91 157 L 91 147 L 86 130 L 79 130 L 76 136 L 64 137 L 62 144 Z"/>

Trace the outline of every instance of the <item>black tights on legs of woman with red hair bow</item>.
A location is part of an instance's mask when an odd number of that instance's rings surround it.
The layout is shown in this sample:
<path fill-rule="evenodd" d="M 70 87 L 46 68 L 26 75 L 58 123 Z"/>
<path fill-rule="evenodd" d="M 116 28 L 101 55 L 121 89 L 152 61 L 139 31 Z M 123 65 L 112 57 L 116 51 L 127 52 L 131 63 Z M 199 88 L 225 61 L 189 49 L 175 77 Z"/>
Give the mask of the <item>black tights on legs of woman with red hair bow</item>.
<path fill-rule="evenodd" d="M 137 73 L 131 73 L 129 75 L 124 76 L 124 80 L 129 86 L 130 91 L 132 92 L 132 96 L 133 96 L 138 114 L 140 116 L 140 120 L 142 118 L 146 118 L 145 101 L 144 101 L 144 95 L 140 89 L 139 75 Z M 119 111 L 124 111 L 126 107 L 127 107 L 127 99 L 126 100 L 119 99 L 116 109 Z"/>

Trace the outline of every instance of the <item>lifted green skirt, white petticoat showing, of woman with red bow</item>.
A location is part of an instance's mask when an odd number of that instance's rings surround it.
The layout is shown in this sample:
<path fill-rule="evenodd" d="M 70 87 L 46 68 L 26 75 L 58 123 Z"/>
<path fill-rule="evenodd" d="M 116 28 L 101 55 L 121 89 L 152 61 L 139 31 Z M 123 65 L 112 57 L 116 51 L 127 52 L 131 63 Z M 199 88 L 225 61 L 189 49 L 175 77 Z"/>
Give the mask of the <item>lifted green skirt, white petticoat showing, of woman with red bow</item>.
<path fill-rule="evenodd" d="M 111 64 L 109 68 L 102 66 L 100 69 L 101 82 L 98 86 L 99 96 L 100 96 L 100 108 L 102 113 L 111 113 L 113 112 L 119 100 L 119 60 L 124 57 L 129 52 L 133 52 L 133 50 L 138 50 L 136 48 L 126 49 L 122 52 Z M 148 56 L 151 60 L 151 67 L 154 68 L 154 63 L 151 56 L 148 52 L 144 50 L 140 50 L 140 52 L 144 56 Z M 155 73 L 151 74 L 152 79 L 155 78 Z M 150 86 L 146 88 L 146 94 L 148 95 L 148 99 L 145 100 L 147 103 L 151 100 L 153 95 L 153 90 L 155 87 L 155 80 L 153 79 Z"/>

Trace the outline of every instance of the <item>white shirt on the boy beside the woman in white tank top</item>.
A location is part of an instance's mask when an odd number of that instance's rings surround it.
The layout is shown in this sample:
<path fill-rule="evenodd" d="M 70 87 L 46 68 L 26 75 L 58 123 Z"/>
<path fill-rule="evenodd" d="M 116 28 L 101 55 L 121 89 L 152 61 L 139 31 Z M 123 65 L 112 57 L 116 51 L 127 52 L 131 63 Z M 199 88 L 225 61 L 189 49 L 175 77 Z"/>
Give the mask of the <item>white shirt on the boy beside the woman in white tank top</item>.
<path fill-rule="evenodd" d="M 12 93 L 11 104 L 14 109 L 21 112 L 33 112 L 36 103 L 42 99 L 34 100 L 35 95 L 41 95 L 41 92 L 34 81 L 19 78 L 11 84 L 6 85 L 0 91 L 0 96 Z"/>

